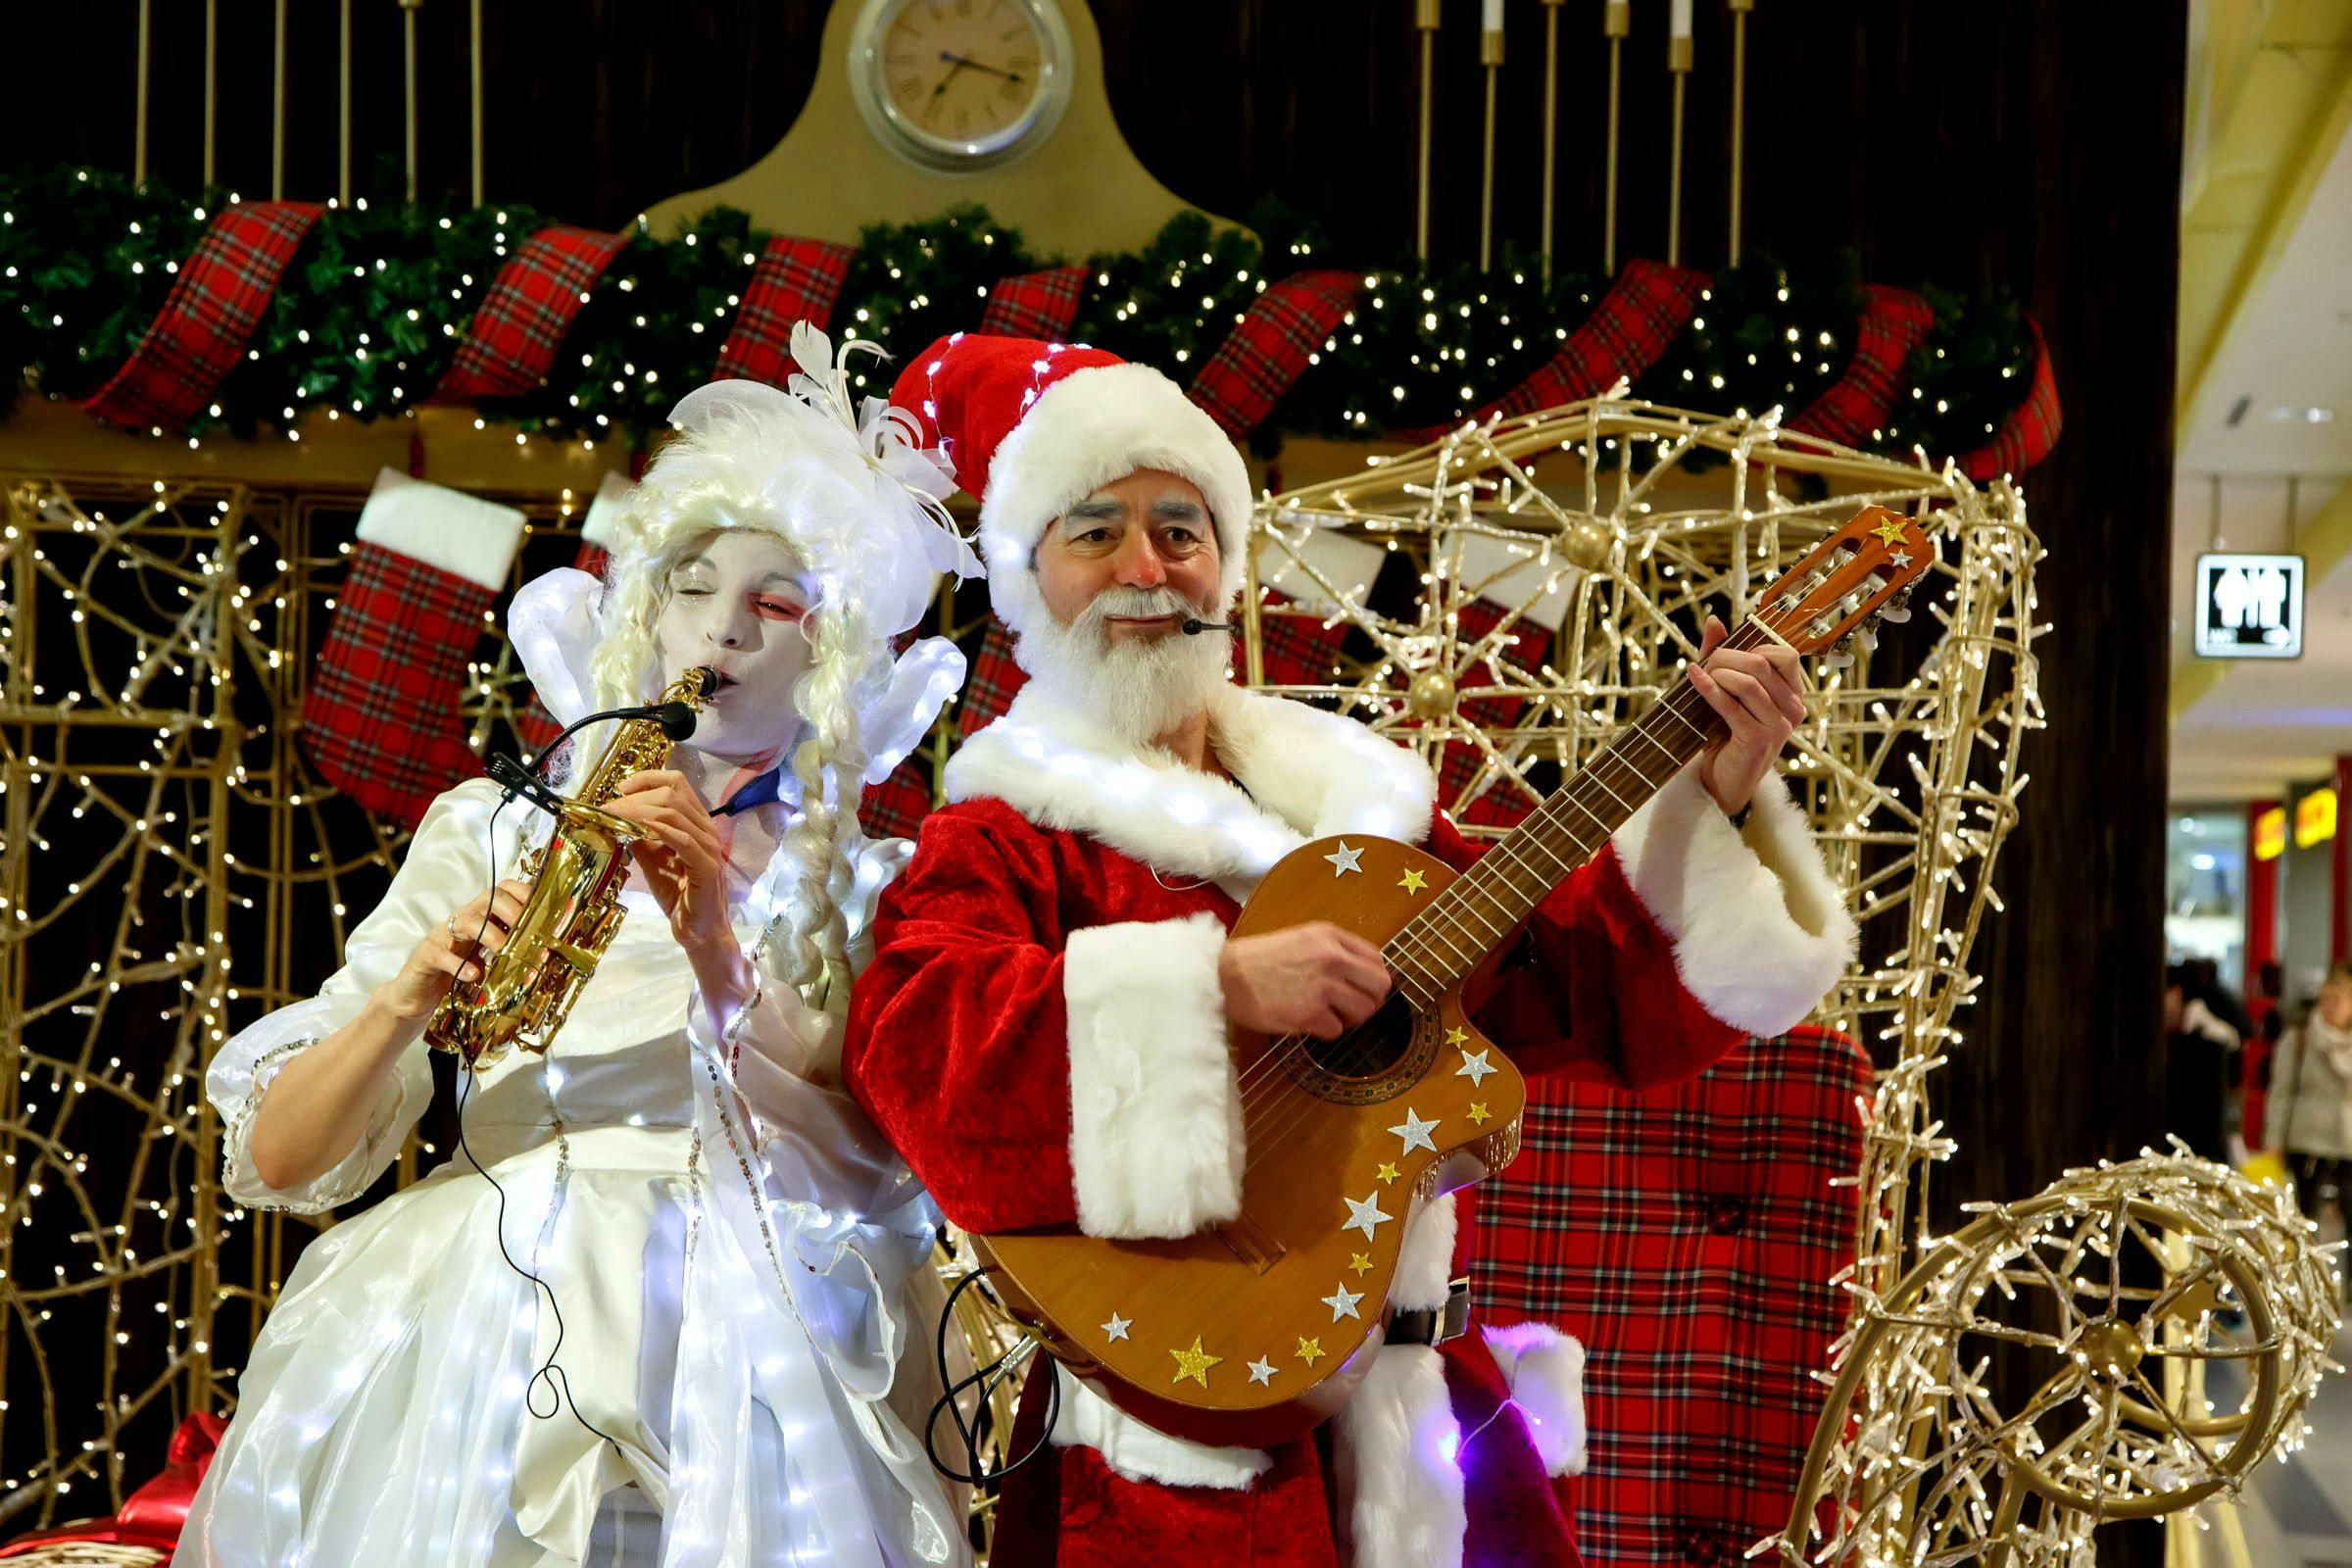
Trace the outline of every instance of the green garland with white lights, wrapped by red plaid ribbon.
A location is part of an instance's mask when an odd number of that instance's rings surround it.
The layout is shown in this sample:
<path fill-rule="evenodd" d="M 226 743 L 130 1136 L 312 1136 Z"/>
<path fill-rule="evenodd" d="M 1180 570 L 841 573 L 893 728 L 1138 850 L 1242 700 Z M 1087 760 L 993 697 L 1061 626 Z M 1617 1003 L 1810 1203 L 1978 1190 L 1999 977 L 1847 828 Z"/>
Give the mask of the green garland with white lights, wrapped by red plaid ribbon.
<path fill-rule="evenodd" d="M 172 273 L 228 190 L 198 197 L 92 169 L 0 176 L 0 411 L 21 388 L 94 393 L 139 343 Z M 433 393 L 503 256 L 548 219 L 522 205 L 355 202 L 329 209 L 285 270 L 254 334 L 188 435 L 289 433 L 310 411 L 395 416 Z M 1249 303 L 1327 259 L 1298 214 L 1249 214 L 1258 237 L 1174 219 L 1145 249 L 1091 256 L 1075 341 L 1190 378 Z M 621 433 L 642 442 L 706 381 L 753 261 L 767 242 L 743 212 L 715 209 L 668 240 L 635 235 L 564 334 L 543 388 L 477 407 L 485 421 L 550 440 Z M 833 310 L 835 336 L 908 355 L 978 320 L 1007 275 L 1056 266 L 983 209 L 861 235 Z M 1265 423 L 1282 435 L 1376 437 L 1442 425 L 1538 369 L 1590 313 L 1606 280 L 1505 252 L 1491 273 L 1418 261 L 1369 268 L 1364 299 Z M 1910 364 L 1917 397 L 1886 451 L 1966 451 L 2025 397 L 2034 346 L 2016 306 L 1936 294 L 1936 331 Z M 1672 404 L 1804 409 L 1851 357 L 1851 275 L 1799 277 L 1750 256 L 1717 273 L 1691 327 L 1635 386 Z M 863 390 L 880 393 L 887 369 Z"/>

